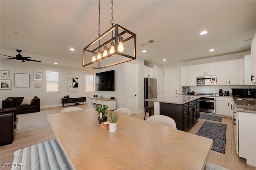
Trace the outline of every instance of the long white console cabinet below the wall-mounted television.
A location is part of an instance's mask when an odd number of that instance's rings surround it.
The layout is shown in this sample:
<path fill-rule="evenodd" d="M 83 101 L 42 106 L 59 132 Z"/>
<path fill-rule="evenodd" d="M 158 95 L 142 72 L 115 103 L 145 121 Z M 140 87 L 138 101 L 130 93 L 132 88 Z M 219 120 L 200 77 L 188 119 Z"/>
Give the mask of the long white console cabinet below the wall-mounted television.
<path fill-rule="evenodd" d="M 89 109 L 96 108 L 97 105 L 103 107 L 103 105 L 108 106 L 108 109 L 116 109 L 116 100 L 107 99 L 107 98 L 95 98 L 95 97 L 87 97 L 89 101 Z"/>

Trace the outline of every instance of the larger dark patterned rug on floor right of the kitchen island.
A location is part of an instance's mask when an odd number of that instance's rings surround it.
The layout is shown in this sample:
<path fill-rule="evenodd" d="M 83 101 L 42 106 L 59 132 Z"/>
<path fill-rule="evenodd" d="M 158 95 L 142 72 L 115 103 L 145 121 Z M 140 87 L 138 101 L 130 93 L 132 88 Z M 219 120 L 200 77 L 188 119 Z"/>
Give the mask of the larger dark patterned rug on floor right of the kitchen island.
<path fill-rule="evenodd" d="M 226 124 L 205 121 L 196 134 L 212 139 L 212 150 L 225 154 L 226 129 Z"/>

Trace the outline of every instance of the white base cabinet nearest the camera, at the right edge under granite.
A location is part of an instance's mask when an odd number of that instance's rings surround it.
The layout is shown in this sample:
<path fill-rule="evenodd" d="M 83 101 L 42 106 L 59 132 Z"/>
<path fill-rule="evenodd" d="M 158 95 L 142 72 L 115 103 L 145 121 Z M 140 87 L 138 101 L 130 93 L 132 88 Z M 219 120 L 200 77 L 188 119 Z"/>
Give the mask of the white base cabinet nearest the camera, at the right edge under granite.
<path fill-rule="evenodd" d="M 256 114 L 236 112 L 236 138 L 238 155 L 246 159 L 246 164 L 256 166 Z"/>

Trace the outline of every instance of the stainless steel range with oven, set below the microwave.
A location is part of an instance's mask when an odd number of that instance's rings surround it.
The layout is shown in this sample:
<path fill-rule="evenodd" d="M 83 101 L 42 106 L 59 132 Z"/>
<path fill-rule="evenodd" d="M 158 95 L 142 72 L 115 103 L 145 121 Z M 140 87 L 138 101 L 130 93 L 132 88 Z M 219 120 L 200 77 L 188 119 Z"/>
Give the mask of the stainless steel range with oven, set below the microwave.
<path fill-rule="evenodd" d="M 209 97 L 201 97 L 200 100 L 200 112 L 214 113 L 215 114 L 215 97 L 216 94 L 197 94 Z"/>

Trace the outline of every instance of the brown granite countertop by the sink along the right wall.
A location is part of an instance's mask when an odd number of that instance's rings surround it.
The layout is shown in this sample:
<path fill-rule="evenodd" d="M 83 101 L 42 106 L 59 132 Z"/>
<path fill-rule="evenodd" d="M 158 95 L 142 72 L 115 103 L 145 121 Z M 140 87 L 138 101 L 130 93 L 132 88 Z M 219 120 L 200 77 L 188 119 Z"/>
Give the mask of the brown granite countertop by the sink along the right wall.
<path fill-rule="evenodd" d="M 240 100 L 244 99 L 244 100 Z M 256 114 L 256 99 L 233 97 L 237 112 L 255 113 Z"/>

